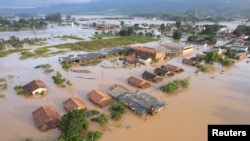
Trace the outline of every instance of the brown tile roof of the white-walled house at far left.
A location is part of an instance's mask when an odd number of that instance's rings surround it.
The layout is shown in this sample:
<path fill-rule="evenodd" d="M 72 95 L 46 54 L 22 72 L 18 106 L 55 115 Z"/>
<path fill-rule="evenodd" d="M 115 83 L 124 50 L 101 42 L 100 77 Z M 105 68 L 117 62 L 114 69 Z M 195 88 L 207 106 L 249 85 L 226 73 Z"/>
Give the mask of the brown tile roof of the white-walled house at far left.
<path fill-rule="evenodd" d="M 46 88 L 46 85 L 41 80 L 33 80 L 29 82 L 28 84 L 24 85 L 22 88 L 23 88 L 23 94 L 29 95 L 38 88 Z"/>

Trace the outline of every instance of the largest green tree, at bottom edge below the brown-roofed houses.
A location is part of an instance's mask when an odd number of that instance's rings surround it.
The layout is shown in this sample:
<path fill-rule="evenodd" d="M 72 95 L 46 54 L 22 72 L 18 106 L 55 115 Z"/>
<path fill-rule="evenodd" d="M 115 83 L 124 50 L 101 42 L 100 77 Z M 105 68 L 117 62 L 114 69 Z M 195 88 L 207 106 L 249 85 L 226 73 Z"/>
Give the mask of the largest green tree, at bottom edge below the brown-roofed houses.
<path fill-rule="evenodd" d="M 59 140 L 61 141 L 78 141 L 83 139 L 82 131 L 86 130 L 89 120 L 84 110 L 72 110 L 65 114 L 58 127 L 60 131 Z"/>

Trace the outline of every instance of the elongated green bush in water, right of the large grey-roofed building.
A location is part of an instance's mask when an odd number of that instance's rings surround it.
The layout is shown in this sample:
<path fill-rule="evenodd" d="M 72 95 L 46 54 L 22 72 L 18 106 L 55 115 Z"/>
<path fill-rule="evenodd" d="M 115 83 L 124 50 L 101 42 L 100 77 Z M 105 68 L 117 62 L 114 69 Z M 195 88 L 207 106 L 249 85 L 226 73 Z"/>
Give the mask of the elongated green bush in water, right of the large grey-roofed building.
<path fill-rule="evenodd" d="M 160 89 L 166 93 L 173 93 L 177 91 L 180 87 L 188 88 L 188 86 L 189 86 L 189 77 L 180 80 L 173 80 L 165 85 L 162 85 Z"/>

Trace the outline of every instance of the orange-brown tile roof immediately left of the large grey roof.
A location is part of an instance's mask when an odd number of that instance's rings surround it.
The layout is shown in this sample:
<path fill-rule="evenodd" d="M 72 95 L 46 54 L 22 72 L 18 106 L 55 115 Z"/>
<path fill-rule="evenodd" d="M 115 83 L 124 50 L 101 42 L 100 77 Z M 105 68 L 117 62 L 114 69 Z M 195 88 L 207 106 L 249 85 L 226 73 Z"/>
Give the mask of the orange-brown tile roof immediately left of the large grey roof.
<path fill-rule="evenodd" d="M 101 90 L 92 90 L 87 94 L 88 98 L 100 107 L 105 107 L 114 102 L 114 99 Z"/>

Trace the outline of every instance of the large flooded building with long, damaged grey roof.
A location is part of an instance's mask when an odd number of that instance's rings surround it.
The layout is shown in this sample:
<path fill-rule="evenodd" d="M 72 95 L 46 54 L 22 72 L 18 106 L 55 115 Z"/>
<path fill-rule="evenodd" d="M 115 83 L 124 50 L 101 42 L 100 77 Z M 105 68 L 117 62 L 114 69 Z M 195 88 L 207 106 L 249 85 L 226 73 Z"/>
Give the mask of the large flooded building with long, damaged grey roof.
<path fill-rule="evenodd" d="M 108 94 L 118 101 L 124 102 L 129 109 L 141 116 L 146 114 L 154 115 L 166 107 L 165 102 L 156 99 L 150 94 L 138 90 L 127 91 L 119 85 L 112 87 Z"/>

